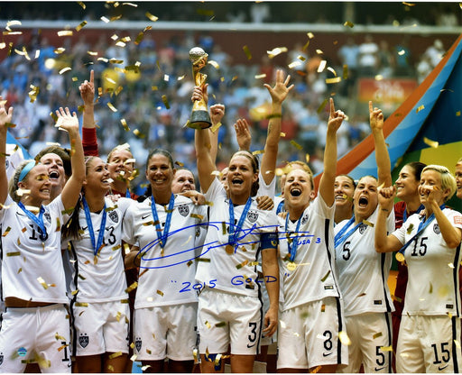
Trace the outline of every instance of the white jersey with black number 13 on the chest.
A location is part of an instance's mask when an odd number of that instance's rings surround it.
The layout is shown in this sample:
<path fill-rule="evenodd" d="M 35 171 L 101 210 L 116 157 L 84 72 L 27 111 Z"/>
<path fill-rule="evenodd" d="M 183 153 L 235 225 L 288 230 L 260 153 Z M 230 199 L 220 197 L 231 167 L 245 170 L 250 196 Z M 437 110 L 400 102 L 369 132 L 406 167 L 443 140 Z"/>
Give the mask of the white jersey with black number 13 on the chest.
<path fill-rule="evenodd" d="M 125 211 L 134 204 L 132 199 L 119 198 L 116 203 L 105 197 L 106 225 L 103 246 L 95 255 L 87 217 L 83 207 L 79 210 L 79 224 L 83 233 L 79 239 L 69 240 L 72 258 L 70 290 L 74 299 L 81 302 L 111 302 L 128 298 L 122 252 L 122 223 Z M 99 236 L 103 213 L 90 213 L 95 242 Z"/>

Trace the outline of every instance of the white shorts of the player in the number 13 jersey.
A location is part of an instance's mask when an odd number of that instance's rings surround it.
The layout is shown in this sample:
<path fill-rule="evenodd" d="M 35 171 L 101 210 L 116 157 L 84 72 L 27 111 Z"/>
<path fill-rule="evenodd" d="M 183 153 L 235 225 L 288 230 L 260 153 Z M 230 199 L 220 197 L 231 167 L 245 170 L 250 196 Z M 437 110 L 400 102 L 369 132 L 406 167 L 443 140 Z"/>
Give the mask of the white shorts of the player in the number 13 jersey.
<path fill-rule="evenodd" d="M 88 306 L 72 306 L 73 355 L 96 355 L 104 352 L 128 352 L 128 322 L 130 311 L 127 303 L 88 303 Z"/>

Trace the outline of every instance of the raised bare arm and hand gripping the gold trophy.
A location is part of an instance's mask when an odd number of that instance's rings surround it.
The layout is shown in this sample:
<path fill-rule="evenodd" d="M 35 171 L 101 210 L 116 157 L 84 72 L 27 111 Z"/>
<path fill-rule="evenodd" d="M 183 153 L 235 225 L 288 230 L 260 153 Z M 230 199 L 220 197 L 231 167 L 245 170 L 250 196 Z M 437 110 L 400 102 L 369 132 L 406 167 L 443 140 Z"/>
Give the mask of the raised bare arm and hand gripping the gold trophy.
<path fill-rule="evenodd" d="M 207 87 L 204 89 L 207 90 Z M 202 95 L 205 95 L 205 93 L 202 92 L 200 87 L 194 87 L 192 100 L 199 100 Z M 194 137 L 199 183 L 203 193 L 207 193 L 208 188 L 210 188 L 215 178 L 212 172 L 216 170 L 215 161 L 212 159 L 211 154 L 210 133 L 208 129 L 196 129 Z"/>

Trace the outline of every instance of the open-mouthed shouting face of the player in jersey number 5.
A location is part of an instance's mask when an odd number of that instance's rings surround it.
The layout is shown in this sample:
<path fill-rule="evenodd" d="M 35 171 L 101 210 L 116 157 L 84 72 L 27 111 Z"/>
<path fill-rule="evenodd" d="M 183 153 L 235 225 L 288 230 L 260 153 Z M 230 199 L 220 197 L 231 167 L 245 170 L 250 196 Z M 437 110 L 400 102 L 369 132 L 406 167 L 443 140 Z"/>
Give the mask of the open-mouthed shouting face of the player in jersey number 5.
<path fill-rule="evenodd" d="M 361 178 L 353 196 L 356 221 L 365 220 L 372 215 L 377 203 L 377 180 L 371 176 Z"/>

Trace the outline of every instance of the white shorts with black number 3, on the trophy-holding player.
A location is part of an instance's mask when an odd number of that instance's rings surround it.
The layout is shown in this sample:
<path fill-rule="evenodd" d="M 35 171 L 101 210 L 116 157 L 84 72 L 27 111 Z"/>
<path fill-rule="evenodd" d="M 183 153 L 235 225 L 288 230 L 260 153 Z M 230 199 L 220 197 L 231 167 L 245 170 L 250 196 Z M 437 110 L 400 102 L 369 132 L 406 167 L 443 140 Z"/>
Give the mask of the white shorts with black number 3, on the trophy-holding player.
<path fill-rule="evenodd" d="M 255 355 L 262 336 L 262 302 L 205 288 L 199 295 L 199 352 Z"/>

